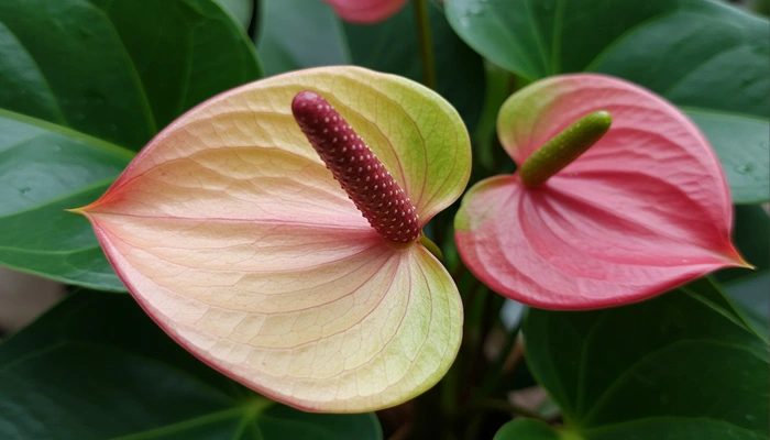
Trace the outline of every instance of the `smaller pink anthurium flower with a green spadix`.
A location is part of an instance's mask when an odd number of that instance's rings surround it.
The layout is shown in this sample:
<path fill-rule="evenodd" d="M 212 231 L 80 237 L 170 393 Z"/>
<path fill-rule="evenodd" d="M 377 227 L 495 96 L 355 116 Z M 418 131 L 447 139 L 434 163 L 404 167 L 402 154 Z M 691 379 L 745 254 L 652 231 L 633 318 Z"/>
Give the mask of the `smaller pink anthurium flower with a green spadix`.
<path fill-rule="evenodd" d="M 494 290 L 541 308 L 588 309 L 745 265 L 715 154 L 650 91 L 592 74 L 548 78 L 503 105 L 497 132 L 519 169 L 476 184 L 455 217 L 462 260 Z M 588 138 L 587 152 L 558 164 L 564 139 Z"/>

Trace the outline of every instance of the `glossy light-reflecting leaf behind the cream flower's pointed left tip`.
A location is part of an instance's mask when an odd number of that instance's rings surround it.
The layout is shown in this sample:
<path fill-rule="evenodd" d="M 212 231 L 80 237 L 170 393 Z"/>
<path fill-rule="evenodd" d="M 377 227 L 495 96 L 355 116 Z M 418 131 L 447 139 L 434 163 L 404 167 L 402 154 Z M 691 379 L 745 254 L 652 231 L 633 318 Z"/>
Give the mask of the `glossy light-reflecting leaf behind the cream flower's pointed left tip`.
<path fill-rule="evenodd" d="M 64 210 L 92 200 L 130 150 L 0 110 L 0 262 L 65 283 L 121 290 L 96 237 Z"/>

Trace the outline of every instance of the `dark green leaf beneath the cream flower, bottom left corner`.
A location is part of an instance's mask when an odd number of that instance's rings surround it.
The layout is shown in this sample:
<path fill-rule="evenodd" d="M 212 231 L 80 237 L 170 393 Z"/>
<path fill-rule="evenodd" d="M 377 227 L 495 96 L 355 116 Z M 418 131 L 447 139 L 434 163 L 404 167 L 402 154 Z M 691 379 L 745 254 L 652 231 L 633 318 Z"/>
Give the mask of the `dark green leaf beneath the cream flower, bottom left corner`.
<path fill-rule="evenodd" d="M 128 296 L 80 292 L 0 344 L 4 439 L 382 439 L 373 414 L 258 396 L 165 336 Z"/>

